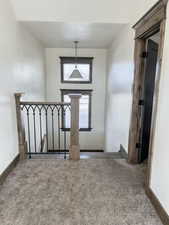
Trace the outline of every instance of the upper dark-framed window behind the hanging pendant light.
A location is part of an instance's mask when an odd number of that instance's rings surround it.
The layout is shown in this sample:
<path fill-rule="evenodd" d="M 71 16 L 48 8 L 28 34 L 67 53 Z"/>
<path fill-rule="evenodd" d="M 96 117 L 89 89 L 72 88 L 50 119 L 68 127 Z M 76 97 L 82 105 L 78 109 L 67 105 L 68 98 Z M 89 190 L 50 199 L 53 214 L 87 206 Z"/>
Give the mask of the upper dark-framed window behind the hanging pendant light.
<path fill-rule="evenodd" d="M 92 57 L 78 57 L 77 68 L 83 79 L 71 79 L 70 75 L 75 68 L 75 57 L 60 57 L 61 60 L 61 82 L 62 83 L 92 83 Z"/>

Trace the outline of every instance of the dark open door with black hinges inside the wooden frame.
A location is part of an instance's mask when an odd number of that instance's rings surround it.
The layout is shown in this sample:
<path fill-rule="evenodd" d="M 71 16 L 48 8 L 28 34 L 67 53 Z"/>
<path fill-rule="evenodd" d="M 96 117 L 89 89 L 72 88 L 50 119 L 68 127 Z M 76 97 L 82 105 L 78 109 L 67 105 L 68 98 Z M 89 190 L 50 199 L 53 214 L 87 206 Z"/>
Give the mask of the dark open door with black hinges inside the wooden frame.
<path fill-rule="evenodd" d="M 147 159 L 149 153 L 157 57 L 158 44 L 152 40 L 148 40 L 142 101 L 142 122 L 140 133 L 141 148 L 139 154 L 140 162 Z"/>

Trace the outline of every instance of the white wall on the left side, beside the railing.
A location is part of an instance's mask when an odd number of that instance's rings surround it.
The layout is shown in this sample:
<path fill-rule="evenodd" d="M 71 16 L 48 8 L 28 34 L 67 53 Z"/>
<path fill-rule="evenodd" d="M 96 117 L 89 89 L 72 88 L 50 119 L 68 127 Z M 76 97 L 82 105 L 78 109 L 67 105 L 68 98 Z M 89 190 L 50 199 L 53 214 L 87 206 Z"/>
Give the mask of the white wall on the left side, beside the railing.
<path fill-rule="evenodd" d="M 42 46 L 15 19 L 10 2 L 0 0 L 0 174 L 18 154 L 15 92 L 44 99 Z"/>

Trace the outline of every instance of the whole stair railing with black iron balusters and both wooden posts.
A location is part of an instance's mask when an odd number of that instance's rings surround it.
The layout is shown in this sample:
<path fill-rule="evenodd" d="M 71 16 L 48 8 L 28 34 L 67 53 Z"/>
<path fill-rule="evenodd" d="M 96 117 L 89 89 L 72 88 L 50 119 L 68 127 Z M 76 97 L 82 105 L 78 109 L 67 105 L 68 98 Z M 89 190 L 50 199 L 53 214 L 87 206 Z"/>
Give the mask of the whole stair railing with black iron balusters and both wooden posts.
<path fill-rule="evenodd" d="M 20 160 L 26 159 L 27 155 L 31 158 L 38 154 L 63 154 L 66 159 L 68 152 L 69 159 L 79 160 L 81 95 L 70 95 L 71 103 L 25 102 L 21 101 L 22 95 L 15 94 Z"/>

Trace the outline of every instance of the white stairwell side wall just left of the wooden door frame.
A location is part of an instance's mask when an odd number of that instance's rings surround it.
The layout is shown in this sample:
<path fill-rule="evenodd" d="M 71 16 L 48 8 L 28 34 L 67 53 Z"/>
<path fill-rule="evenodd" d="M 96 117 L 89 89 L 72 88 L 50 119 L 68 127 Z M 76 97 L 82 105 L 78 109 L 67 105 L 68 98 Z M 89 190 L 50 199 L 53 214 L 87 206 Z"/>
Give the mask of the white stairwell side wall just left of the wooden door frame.
<path fill-rule="evenodd" d="M 120 145 L 128 150 L 132 104 L 134 32 L 130 26 L 117 35 L 108 50 L 105 149 L 117 152 Z"/>

